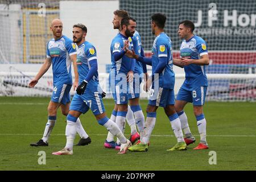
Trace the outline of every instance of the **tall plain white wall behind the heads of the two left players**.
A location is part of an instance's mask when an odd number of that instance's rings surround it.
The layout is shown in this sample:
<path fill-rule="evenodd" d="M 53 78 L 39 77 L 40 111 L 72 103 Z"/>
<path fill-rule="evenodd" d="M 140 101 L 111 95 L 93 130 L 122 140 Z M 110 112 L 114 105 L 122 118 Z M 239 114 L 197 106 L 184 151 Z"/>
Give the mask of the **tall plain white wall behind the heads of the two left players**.
<path fill-rule="evenodd" d="M 118 8 L 119 1 L 60 1 L 63 34 L 72 39 L 73 25 L 85 24 L 85 39 L 97 49 L 99 72 L 105 72 L 105 64 L 111 63 L 110 44 L 118 32 L 113 29 L 113 12 Z"/>

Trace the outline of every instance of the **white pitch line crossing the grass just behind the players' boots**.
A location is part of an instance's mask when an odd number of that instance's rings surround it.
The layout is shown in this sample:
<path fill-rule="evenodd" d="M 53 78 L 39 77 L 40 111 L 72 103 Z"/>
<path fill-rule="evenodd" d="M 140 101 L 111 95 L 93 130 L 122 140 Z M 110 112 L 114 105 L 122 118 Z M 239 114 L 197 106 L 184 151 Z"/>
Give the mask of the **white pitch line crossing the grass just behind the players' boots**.
<path fill-rule="evenodd" d="M 10 135 L 19 135 L 19 136 L 26 136 L 26 135 L 42 135 L 42 134 L 22 134 L 22 133 L 1 133 L 0 136 L 10 136 Z M 65 134 L 51 134 L 56 136 L 64 136 Z M 106 134 L 90 134 L 96 136 L 106 136 Z M 175 137 L 175 135 L 151 135 L 152 137 Z M 195 137 L 200 137 L 200 135 L 194 135 Z M 207 135 L 207 137 L 256 137 L 256 135 Z"/>

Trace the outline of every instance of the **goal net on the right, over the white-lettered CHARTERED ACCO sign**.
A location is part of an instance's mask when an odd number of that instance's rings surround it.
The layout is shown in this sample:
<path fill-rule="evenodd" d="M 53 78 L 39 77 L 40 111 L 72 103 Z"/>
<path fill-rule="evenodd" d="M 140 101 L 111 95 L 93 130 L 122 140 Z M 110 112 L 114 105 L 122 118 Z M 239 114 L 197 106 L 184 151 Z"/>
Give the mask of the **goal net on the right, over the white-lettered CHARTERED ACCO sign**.
<path fill-rule="evenodd" d="M 120 0 L 120 9 L 137 20 L 143 48 L 150 55 L 154 35 L 151 15 L 167 16 L 164 31 L 170 36 L 174 57 L 179 57 L 181 40 L 177 35 L 179 22 L 195 23 L 194 34 L 208 43 L 210 65 L 207 100 L 256 100 L 256 1 L 136 1 Z M 183 71 L 176 72 L 176 81 Z M 177 85 L 176 85 L 177 86 Z"/>

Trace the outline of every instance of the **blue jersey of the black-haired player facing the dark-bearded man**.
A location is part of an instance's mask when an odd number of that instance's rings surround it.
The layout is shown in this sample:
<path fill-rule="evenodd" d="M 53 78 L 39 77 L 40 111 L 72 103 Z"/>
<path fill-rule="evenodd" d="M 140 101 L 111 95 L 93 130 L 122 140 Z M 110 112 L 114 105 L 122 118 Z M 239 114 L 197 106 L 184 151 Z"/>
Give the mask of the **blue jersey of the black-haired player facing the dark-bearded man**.
<path fill-rule="evenodd" d="M 159 74 L 159 87 L 165 89 L 174 89 L 175 74 L 172 70 L 172 42 L 171 39 L 162 32 L 156 36 L 152 47 L 152 73 L 159 63 L 159 57 L 167 57 L 167 65 Z"/>

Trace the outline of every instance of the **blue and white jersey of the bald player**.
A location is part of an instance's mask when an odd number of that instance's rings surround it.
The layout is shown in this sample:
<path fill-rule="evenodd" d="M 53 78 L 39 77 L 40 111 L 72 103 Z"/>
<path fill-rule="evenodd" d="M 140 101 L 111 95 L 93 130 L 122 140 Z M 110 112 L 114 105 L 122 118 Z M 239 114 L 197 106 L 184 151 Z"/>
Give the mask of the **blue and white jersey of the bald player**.
<path fill-rule="evenodd" d="M 53 84 L 72 84 L 72 61 L 69 56 L 75 54 L 76 44 L 67 36 L 49 40 L 46 55 L 52 60 Z"/>

